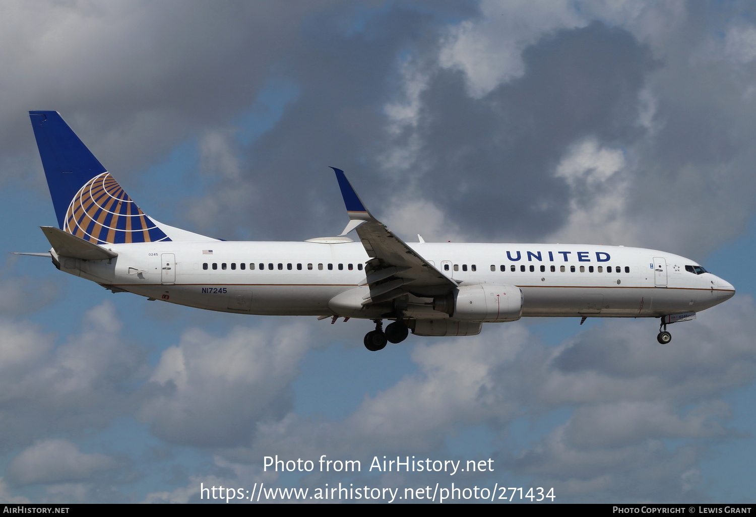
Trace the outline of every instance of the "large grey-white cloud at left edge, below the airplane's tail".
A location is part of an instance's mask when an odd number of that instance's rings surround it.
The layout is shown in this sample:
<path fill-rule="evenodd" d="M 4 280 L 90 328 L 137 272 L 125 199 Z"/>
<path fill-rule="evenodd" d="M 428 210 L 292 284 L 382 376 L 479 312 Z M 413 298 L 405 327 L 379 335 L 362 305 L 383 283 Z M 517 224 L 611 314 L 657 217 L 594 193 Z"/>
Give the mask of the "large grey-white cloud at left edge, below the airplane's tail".
<path fill-rule="evenodd" d="M 84 314 L 79 333 L 55 347 L 51 334 L 26 322 L 0 324 L 0 449 L 106 426 L 139 398 L 144 353 L 119 336 L 113 306 Z"/>

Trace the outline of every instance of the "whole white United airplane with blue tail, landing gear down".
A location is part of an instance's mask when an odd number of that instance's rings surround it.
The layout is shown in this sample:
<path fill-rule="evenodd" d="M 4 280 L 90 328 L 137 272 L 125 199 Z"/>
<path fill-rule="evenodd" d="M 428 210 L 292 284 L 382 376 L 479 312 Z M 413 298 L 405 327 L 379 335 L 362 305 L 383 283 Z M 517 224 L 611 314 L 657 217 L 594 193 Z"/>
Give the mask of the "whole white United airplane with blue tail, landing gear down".
<path fill-rule="evenodd" d="M 57 216 L 43 226 L 60 271 L 113 293 L 237 314 L 372 320 L 364 346 L 474 336 L 521 317 L 654 317 L 669 324 L 735 289 L 689 258 L 590 244 L 405 243 L 331 168 L 349 223 L 303 242 L 232 242 L 147 216 L 56 111 L 30 111 Z M 356 231 L 354 241 L 346 234 Z M 383 329 L 383 320 L 391 323 Z"/>

